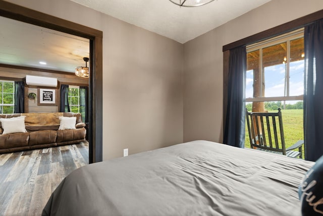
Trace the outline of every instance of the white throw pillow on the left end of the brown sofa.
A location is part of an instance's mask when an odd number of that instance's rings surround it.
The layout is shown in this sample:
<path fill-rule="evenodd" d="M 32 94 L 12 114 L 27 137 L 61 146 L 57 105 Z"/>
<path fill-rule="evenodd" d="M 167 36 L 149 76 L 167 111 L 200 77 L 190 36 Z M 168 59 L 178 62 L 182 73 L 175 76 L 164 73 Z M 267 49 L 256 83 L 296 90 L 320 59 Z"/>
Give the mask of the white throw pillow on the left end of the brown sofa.
<path fill-rule="evenodd" d="M 0 119 L 4 132 L 2 134 L 26 133 L 25 116 Z"/>

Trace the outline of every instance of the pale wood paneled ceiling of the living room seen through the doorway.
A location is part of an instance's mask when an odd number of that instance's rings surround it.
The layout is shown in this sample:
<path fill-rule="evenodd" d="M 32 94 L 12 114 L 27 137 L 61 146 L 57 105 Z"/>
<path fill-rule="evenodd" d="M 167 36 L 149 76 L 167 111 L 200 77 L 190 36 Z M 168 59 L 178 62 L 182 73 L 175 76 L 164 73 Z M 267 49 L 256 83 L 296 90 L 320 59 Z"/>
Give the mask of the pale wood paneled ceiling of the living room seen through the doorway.
<path fill-rule="evenodd" d="M 74 73 L 89 57 L 87 38 L 1 16 L 0 26 L 0 64 Z"/>

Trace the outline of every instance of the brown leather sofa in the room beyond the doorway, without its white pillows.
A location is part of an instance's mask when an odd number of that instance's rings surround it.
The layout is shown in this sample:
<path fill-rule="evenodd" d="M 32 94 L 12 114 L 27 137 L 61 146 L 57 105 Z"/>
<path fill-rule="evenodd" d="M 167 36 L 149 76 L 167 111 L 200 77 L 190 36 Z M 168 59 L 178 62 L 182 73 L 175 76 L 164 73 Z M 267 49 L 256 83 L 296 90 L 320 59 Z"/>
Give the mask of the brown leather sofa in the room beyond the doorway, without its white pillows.
<path fill-rule="evenodd" d="M 26 133 L 3 134 L 0 121 L 0 153 L 69 145 L 85 140 L 80 113 L 0 114 L 0 118 L 25 116 Z M 76 117 L 76 129 L 59 130 L 60 117 Z"/>

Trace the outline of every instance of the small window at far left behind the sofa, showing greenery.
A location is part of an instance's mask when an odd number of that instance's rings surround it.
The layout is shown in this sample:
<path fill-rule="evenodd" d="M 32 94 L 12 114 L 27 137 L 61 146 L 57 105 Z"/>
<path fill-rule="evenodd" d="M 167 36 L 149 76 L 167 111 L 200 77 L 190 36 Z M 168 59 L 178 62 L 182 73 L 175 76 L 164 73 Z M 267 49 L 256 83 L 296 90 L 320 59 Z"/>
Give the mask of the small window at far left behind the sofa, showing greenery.
<path fill-rule="evenodd" d="M 15 82 L 0 80 L 0 113 L 13 114 L 15 110 Z"/>

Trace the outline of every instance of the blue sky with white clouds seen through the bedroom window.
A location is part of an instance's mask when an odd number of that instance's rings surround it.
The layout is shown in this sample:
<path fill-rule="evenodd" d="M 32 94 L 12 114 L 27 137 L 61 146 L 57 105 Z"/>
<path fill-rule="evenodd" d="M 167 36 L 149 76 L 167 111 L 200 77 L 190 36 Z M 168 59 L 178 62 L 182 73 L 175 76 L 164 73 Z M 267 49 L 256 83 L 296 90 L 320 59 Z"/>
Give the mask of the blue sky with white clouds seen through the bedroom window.
<path fill-rule="evenodd" d="M 265 76 L 265 96 L 284 96 L 285 85 L 285 64 L 266 67 Z M 247 71 L 246 98 L 253 94 L 253 71 Z M 304 94 L 304 60 L 290 63 L 289 95 L 297 96 Z M 296 101 L 286 101 L 295 103 Z"/>

